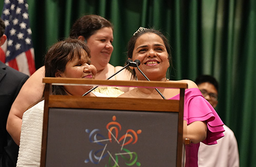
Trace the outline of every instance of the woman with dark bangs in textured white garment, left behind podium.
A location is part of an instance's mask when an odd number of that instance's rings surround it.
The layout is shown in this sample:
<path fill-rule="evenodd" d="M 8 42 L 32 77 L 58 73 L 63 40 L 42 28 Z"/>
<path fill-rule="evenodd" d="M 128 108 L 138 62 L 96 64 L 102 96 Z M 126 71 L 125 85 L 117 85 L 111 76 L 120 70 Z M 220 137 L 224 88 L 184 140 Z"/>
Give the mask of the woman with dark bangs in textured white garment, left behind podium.
<path fill-rule="evenodd" d="M 87 44 L 68 38 L 50 47 L 45 57 L 46 77 L 95 79 L 96 68 L 91 64 Z M 91 86 L 53 85 L 53 94 L 82 96 Z M 87 96 L 101 96 L 90 92 Z M 40 166 L 44 100 L 28 109 L 23 115 L 17 166 Z"/>

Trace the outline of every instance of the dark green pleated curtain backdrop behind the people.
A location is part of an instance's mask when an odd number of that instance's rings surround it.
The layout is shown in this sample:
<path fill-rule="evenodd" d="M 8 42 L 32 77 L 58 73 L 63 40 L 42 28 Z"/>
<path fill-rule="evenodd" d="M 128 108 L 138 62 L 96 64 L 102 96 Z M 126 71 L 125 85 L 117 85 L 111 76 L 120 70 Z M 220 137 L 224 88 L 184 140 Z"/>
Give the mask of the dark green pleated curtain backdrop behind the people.
<path fill-rule="evenodd" d="M 195 80 L 201 74 L 217 78 L 216 110 L 237 137 L 241 166 L 256 166 L 255 0 L 28 0 L 28 4 L 37 68 L 47 48 L 68 37 L 74 21 L 85 14 L 98 14 L 113 23 L 113 65 L 125 62 L 126 43 L 140 26 L 163 32 L 172 46 L 170 79 Z"/>

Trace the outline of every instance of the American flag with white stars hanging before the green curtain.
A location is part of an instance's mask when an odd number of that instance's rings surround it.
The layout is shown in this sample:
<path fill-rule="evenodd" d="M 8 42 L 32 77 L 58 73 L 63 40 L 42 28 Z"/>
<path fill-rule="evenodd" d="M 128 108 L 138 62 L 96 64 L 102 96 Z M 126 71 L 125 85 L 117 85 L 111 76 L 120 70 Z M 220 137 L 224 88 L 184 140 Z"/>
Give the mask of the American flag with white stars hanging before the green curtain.
<path fill-rule="evenodd" d="M 35 71 L 34 49 L 26 0 L 5 0 L 1 18 L 7 40 L 0 49 L 0 61 L 27 75 Z"/>

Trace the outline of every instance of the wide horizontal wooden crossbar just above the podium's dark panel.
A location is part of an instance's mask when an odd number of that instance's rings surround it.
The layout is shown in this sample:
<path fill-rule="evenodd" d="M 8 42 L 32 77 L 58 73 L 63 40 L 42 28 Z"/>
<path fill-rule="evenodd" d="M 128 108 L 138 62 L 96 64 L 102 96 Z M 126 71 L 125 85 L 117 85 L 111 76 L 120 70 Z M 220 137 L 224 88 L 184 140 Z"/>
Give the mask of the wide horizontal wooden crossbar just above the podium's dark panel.
<path fill-rule="evenodd" d="M 99 101 L 100 104 L 97 104 Z M 179 112 L 179 105 L 178 100 L 140 99 L 135 103 L 132 98 L 100 98 L 59 95 L 51 95 L 49 101 L 49 108 L 105 109 L 105 107 L 108 106 L 108 109 L 110 110 L 134 110 L 134 108 L 136 108 L 137 111 L 166 112 Z"/>

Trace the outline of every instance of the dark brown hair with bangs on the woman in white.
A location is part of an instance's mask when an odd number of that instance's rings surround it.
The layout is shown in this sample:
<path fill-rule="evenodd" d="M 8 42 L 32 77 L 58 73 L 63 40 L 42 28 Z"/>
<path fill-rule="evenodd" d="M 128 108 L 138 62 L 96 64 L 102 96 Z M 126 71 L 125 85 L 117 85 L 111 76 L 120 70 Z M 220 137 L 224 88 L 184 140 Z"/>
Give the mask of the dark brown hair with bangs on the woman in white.
<path fill-rule="evenodd" d="M 82 50 L 86 51 L 89 58 L 90 49 L 84 41 L 67 38 L 53 44 L 45 56 L 45 76 L 55 77 L 56 73 L 63 73 L 66 64 L 73 59 L 80 59 Z M 63 86 L 53 85 L 53 94 L 67 94 Z"/>

